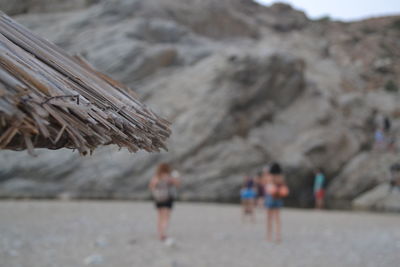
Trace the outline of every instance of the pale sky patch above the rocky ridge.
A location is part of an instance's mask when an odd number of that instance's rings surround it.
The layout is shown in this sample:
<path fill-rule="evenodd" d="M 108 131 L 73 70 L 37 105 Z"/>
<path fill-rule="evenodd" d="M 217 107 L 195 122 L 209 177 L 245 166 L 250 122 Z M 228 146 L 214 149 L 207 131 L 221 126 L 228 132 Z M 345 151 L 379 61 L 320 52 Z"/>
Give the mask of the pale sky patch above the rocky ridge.
<path fill-rule="evenodd" d="M 329 16 L 351 21 L 383 15 L 400 15 L 400 0 L 254 0 L 261 4 L 288 3 L 304 11 L 311 19 Z"/>

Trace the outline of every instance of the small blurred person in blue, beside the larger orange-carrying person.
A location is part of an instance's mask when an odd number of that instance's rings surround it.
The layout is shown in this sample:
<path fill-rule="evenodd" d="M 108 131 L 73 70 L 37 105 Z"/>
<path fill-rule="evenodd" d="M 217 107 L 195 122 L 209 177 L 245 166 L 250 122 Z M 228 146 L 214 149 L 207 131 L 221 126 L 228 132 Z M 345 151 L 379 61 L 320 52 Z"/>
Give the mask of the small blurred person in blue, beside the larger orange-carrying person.
<path fill-rule="evenodd" d="M 240 189 L 240 199 L 242 202 L 242 220 L 250 217 L 252 222 L 255 222 L 254 207 L 257 196 L 256 183 L 253 178 L 246 176 Z"/>

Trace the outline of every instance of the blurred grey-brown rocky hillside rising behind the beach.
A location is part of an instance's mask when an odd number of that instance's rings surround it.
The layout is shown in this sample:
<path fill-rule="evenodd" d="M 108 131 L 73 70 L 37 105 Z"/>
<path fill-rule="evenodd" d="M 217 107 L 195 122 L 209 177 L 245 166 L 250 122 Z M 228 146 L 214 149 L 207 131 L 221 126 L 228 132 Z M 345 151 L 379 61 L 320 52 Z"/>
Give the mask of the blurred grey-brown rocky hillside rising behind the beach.
<path fill-rule="evenodd" d="M 76 1 L 69 12 L 31 2 L 12 11 L 20 23 L 128 84 L 173 135 L 162 154 L 2 151 L 3 197 L 147 198 L 168 161 L 182 199 L 232 201 L 245 174 L 279 161 L 290 204 L 311 205 L 321 167 L 331 206 L 348 207 L 400 161 L 372 149 L 382 116 L 400 137 L 399 16 L 311 21 L 250 0 Z"/>

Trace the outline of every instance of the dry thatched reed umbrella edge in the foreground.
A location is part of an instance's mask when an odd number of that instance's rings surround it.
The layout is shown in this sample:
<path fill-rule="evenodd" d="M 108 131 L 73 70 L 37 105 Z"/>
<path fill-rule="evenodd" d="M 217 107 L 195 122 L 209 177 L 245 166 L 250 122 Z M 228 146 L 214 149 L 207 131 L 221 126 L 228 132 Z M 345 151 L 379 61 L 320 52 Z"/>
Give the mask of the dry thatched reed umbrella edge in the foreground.
<path fill-rule="evenodd" d="M 0 149 L 166 149 L 170 123 L 127 87 L 0 12 Z"/>

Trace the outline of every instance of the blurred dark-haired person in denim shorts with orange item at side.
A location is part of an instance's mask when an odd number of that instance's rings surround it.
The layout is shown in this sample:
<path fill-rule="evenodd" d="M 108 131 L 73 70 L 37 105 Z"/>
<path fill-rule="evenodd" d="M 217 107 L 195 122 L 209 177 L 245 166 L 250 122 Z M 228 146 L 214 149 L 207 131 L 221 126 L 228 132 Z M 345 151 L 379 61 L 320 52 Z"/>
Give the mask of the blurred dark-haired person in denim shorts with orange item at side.
<path fill-rule="evenodd" d="M 276 242 L 281 241 L 280 209 L 283 207 L 283 198 L 289 194 L 282 168 L 273 163 L 269 169 L 269 177 L 265 179 L 265 207 L 267 208 L 267 240 L 272 241 L 273 225 L 275 224 Z"/>

